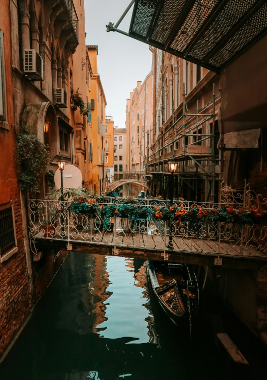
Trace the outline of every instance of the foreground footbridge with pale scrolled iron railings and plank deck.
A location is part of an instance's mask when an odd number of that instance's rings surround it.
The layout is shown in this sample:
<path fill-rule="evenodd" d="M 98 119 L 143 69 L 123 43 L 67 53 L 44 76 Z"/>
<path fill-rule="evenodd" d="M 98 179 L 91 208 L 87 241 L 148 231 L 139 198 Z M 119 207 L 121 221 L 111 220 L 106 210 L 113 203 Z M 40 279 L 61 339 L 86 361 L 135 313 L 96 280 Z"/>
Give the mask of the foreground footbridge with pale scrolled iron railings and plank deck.
<path fill-rule="evenodd" d="M 236 199 L 227 199 L 227 203 L 221 204 L 184 200 L 179 204 L 188 212 L 192 206 L 200 207 L 201 212 L 219 209 L 223 204 L 237 207 Z M 123 200 L 109 201 L 119 209 Z M 168 200 L 136 199 L 136 202 L 135 208 L 142 210 L 169 208 Z M 107 203 L 97 204 L 100 209 L 104 205 Z M 192 230 L 188 222 L 156 220 L 151 216 L 133 220 L 124 215 L 110 217 L 107 225 L 99 214 L 73 212 L 70 202 L 34 199 L 29 200 L 29 219 L 34 255 L 44 248 L 54 248 L 240 269 L 257 270 L 267 265 L 267 226 L 263 224 L 213 221 Z"/>

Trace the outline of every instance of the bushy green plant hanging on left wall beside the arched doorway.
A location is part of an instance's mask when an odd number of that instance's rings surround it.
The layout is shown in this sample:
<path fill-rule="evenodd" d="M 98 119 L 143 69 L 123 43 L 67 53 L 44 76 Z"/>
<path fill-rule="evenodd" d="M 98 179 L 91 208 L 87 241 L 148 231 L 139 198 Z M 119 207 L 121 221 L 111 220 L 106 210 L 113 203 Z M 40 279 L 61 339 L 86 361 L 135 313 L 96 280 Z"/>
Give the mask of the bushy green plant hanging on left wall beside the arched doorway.
<path fill-rule="evenodd" d="M 29 132 L 23 121 L 16 137 L 16 154 L 17 163 L 21 166 L 20 188 L 29 190 L 34 196 L 40 191 L 41 176 L 50 164 L 50 155 L 48 147 Z"/>

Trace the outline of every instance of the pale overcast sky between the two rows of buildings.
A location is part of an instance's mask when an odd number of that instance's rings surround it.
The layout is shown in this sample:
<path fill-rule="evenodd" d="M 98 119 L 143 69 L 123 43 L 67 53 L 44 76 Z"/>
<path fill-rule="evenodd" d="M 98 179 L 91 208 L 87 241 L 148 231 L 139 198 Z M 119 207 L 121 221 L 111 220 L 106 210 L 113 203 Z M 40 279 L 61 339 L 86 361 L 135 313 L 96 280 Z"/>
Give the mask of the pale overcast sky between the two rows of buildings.
<path fill-rule="evenodd" d="M 114 126 L 125 127 L 126 99 L 151 70 L 148 45 L 117 32 L 107 33 L 109 21 L 116 22 L 131 0 L 85 0 L 86 43 L 98 45 L 98 72 L 107 98 L 106 113 Z M 119 28 L 129 31 L 133 7 Z"/>

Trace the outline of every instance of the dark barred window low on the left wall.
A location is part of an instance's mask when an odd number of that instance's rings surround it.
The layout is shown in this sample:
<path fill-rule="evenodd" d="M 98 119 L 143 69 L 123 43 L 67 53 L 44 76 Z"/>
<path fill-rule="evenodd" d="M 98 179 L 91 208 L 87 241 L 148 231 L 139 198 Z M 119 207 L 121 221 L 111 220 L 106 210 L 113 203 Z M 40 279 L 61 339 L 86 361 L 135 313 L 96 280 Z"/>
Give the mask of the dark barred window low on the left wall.
<path fill-rule="evenodd" d="M 12 207 L 0 211 L 0 255 L 16 246 Z"/>

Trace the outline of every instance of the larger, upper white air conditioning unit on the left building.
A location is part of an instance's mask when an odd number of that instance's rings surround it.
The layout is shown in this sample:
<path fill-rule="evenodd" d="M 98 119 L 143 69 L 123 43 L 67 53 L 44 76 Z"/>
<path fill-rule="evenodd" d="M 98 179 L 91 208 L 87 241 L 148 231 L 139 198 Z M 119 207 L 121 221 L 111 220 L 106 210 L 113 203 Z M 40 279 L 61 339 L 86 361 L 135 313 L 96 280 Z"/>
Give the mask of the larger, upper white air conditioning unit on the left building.
<path fill-rule="evenodd" d="M 27 74 L 31 79 L 43 79 L 43 59 L 36 50 L 24 50 L 23 69 L 24 73 Z"/>

